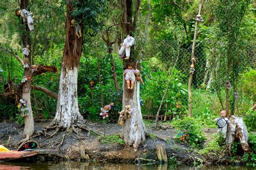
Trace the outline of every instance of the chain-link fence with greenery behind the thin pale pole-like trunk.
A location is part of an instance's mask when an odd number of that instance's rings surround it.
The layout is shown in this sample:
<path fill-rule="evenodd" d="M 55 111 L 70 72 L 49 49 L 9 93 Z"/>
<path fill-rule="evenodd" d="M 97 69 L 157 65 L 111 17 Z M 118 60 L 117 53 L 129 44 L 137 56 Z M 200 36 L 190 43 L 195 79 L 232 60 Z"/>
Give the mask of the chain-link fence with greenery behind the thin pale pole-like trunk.
<path fill-rule="evenodd" d="M 194 52 L 196 65 L 192 80 L 193 115 L 217 113 L 225 108 L 226 48 L 225 43 L 197 42 L 196 44 Z M 233 88 L 230 90 L 230 102 L 231 107 L 234 108 L 231 110 L 236 114 L 248 109 L 250 101 L 253 101 L 253 97 L 255 98 L 254 94 L 246 94 L 242 87 L 246 84 L 242 84 L 241 79 L 237 79 L 242 77 L 249 68 L 255 69 L 255 49 L 255 44 L 244 44 L 238 45 L 232 51 L 230 81 Z M 156 115 L 174 65 L 176 66 L 160 115 L 163 119 L 166 115 L 165 118 L 168 119 L 187 113 L 187 84 L 191 69 L 191 52 L 192 44 L 184 46 L 177 41 L 150 40 L 150 43 L 145 45 L 143 71 L 146 82 L 140 94 L 144 115 L 147 117 Z"/>

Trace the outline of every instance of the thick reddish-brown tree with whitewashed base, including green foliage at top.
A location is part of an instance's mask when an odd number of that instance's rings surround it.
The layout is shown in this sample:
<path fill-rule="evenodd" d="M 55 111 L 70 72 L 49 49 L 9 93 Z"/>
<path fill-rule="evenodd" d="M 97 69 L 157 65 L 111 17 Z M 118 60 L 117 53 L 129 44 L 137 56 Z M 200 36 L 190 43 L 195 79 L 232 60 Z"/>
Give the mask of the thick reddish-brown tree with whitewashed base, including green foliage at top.
<path fill-rule="evenodd" d="M 44 128 L 45 131 L 50 128 L 69 130 L 71 126 L 72 128 L 78 126 L 87 130 L 86 121 L 79 112 L 77 100 L 79 61 L 82 55 L 83 33 L 87 34 L 98 30 L 97 17 L 104 11 L 103 6 L 104 1 L 80 0 L 66 2 L 66 39 L 57 110 L 51 124 Z M 81 36 L 80 33 L 82 37 L 78 37 Z"/>

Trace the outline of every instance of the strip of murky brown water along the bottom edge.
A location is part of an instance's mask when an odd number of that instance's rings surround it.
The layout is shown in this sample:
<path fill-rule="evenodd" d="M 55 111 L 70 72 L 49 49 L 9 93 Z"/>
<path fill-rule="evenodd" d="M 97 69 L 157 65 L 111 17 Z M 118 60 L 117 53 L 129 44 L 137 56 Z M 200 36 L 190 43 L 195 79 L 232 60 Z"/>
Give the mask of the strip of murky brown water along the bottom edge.
<path fill-rule="evenodd" d="M 167 170 L 167 169 L 241 169 L 251 170 L 256 167 L 245 166 L 201 166 L 201 167 L 188 167 L 188 166 L 173 166 L 173 165 L 133 165 L 133 164 L 92 164 L 88 162 L 0 162 L 0 169 L 111 169 L 111 170 L 130 170 L 130 169 L 142 169 L 142 170 Z"/>

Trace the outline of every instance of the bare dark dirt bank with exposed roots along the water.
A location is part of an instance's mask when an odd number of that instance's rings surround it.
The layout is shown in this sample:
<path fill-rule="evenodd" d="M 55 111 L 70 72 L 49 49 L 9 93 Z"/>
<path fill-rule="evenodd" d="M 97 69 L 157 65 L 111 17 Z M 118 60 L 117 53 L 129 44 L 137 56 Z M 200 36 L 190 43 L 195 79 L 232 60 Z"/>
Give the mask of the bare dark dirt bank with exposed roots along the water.
<path fill-rule="evenodd" d="M 36 131 L 42 131 L 43 126 L 48 125 L 50 122 L 36 122 Z M 98 134 L 88 133 L 84 130 L 78 130 L 78 135 L 72 131 L 59 131 L 52 137 L 55 131 L 48 131 L 48 135 L 38 137 L 32 137 L 31 140 L 36 140 L 39 147 L 42 149 L 58 150 L 59 154 L 51 157 L 50 159 L 70 159 L 80 160 L 80 148 L 82 146 L 85 149 L 85 154 L 89 155 L 89 158 L 93 161 L 100 162 L 133 162 L 136 158 L 145 158 L 157 160 L 156 145 L 163 144 L 166 148 L 168 158 L 175 157 L 177 161 L 181 163 L 190 164 L 196 158 L 202 158 L 201 155 L 194 153 L 190 146 L 180 144 L 174 140 L 177 130 L 170 124 L 164 124 L 163 129 L 154 129 L 154 124 L 146 125 L 148 133 L 154 133 L 160 138 L 164 138 L 168 143 L 159 138 L 152 139 L 147 138 L 146 142 L 141 145 L 137 151 L 133 148 L 125 147 L 120 144 L 102 144 L 99 141 Z M 103 124 L 93 124 L 91 129 L 98 132 L 104 131 Z M 0 123 L 0 144 L 9 148 L 10 150 L 16 150 L 18 143 L 22 139 L 23 127 L 20 127 L 14 123 Z M 106 136 L 112 134 L 119 134 L 122 126 L 118 124 L 106 124 Z M 212 133 L 216 133 L 215 129 L 204 129 L 207 136 Z M 35 133 L 36 134 L 36 133 Z"/>

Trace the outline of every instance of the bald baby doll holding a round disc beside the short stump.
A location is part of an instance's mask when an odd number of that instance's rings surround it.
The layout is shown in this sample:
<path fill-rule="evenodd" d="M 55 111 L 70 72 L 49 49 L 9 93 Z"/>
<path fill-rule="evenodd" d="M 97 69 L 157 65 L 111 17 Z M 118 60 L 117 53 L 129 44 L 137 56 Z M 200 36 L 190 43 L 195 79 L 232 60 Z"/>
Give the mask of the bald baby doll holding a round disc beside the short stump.
<path fill-rule="evenodd" d="M 229 123 L 228 119 L 226 118 L 226 111 L 220 111 L 220 117 L 216 118 L 214 121 L 217 121 L 216 125 L 218 126 L 218 137 L 220 137 L 221 133 L 223 133 L 223 137 L 226 138 L 227 133 L 227 123 Z"/>

